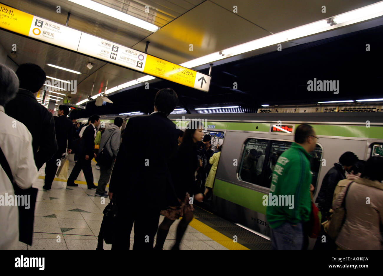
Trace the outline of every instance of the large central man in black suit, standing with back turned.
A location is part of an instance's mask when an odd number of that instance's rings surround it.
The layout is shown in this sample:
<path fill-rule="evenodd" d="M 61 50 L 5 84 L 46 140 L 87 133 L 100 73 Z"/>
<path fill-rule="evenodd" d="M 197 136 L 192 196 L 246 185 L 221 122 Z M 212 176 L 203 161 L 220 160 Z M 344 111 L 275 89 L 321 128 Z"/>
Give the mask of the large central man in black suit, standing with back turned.
<path fill-rule="evenodd" d="M 126 124 L 109 185 L 109 198 L 115 197 L 118 206 L 112 249 L 129 248 L 134 222 L 133 249 L 152 250 L 160 210 L 180 206 L 168 166 L 177 151 L 178 129 L 167 115 L 177 103 L 174 90 L 161 89 L 155 95 L 154 112 L 130 118 Z M 137 139 L 145 146 L 139 147 Z"/>

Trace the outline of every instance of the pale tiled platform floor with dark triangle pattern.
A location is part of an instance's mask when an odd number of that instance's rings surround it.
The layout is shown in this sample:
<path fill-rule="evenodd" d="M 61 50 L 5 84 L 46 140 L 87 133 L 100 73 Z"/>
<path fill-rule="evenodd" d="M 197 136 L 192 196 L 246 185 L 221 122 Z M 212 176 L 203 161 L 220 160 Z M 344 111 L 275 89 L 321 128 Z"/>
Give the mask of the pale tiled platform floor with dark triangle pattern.
<path fill-rule="evenodd" d="M 69 173 L 74 166 L 73 155 L 70 156 Z M 45 167 L 39 171 L 44 176 Z M 100 171 L 92 161 L 94 182 L 97 183 Z M 85 181 L 81 172 L 77 180 Z M 44 180 L 38 178 L 33 186 L 38 188 L 35 209 L 34 234 L 32 246 L 19 243 L 18 249 L 90 249 L 97 247 L 97 238 L 103 218 L 102 211 L 109 203 L 108 198 L 95 197 L 95 189 L 88 190 L 87 185 L 66 187 L 65 181 L 53 181 L 52 189 L 43 189 Z M 108 188 L 106 188 L 108 189 Z M 101 201 L 104 201 L 102 204 Z M 160 217 L 160 222 L 164 217 Z M 170 249 L 175 241 L 178 221 L 171 227 L 164 249 Z M 130 235 L 130 249 L 133 248 L 134 232 Z M 59 242 L 60 241 L 60 242 Z M 111 245 L 104 243 L 104 249 Z M 180 249 L 227 249 L 198 230 L 189 226 Z"/>

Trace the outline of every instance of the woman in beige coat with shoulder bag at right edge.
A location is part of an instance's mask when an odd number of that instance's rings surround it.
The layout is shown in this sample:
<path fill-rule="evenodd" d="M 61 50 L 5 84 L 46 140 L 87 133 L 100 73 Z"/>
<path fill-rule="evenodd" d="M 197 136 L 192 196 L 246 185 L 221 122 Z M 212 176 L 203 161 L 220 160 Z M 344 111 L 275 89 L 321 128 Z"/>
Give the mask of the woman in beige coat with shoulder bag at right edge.
<path fill-rule="evenodd" d="M 345 198 L 347 217 L 336 239 L 339 249 L 383 249 L 380 227 L 383 221 L 383 158 L 367 160 L 364 173 L 350 183 Z M 347 187 L 332 209 L 342 205 Z"/>

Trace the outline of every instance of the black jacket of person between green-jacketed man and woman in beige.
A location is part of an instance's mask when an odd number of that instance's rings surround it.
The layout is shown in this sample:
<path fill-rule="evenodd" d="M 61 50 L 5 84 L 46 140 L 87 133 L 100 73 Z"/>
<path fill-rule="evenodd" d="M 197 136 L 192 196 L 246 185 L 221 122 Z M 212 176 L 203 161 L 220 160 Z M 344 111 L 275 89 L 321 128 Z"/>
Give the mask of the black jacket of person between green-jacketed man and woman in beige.
<path fill-rule="evenodd" d="M 334 163 L 334 167 L 327 171 L 323 178 L 321 189 L 315 200 L 321 211 L 328 212 L 330 210 L 335 187 L 340 180 L 345 178 L 345 170 L 340 163 Z"/>

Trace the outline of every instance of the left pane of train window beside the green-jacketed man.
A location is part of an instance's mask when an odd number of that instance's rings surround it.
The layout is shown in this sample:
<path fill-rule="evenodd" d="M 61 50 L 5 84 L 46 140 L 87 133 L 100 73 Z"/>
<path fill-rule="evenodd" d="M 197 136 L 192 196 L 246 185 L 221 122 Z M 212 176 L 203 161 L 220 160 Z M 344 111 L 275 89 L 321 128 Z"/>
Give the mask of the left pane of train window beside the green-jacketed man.
<path fill-rule="evenodd" d="M 262 186 L 262 168 L 269 141 L 249 139 L 245 143 L 239 179 Z"/>

